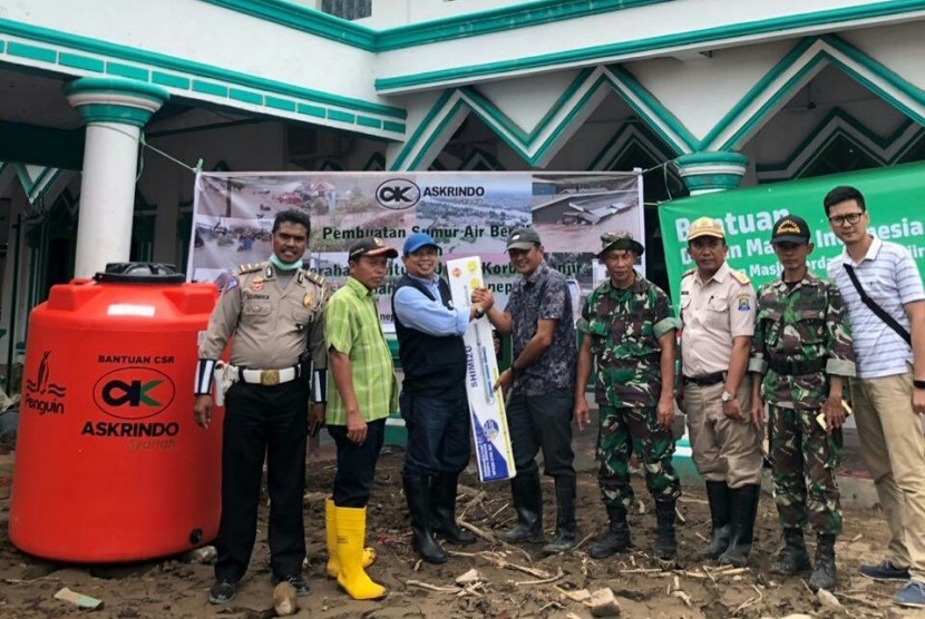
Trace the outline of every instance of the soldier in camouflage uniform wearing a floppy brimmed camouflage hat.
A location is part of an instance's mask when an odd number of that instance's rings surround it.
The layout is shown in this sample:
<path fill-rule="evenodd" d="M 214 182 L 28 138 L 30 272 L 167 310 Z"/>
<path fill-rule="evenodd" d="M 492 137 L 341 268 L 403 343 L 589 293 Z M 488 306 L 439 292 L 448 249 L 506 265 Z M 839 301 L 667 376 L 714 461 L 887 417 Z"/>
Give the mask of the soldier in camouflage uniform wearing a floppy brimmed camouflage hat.
<path fill-rule="evenodd" d="M 626 232 L 601 237 L 597 258 L 610 278 L 585 301 L 578 330 L 584 334 L 578 352 L 575 419 L 587 423 L 585 387 L 592 357 L 597 362 L 594 396 L 601 411 L 597 481 L 607 510 L 607 534 L 592 544 L 595 559 L 630 546 L 626 510 L 633 503 L 630 454 L 645 470 L 649 493 L 655 500 L 659 522 L 655 557 L 671 559 L 674 539 L 674 503 L 681 484 L 671 455 L 674 453 L 674 343 L 676 321 L 668 295 L 633 268 L 644 250 Z"/>

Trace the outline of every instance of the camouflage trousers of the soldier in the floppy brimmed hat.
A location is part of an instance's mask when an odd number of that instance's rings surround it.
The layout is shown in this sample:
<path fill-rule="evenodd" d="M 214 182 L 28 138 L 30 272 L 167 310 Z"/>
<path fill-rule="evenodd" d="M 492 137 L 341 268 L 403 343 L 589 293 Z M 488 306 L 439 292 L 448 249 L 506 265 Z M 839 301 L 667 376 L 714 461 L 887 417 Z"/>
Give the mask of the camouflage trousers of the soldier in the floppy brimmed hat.
<path fill-rule="evenodd" d="M 597 483 L 606 507 L 630 508 L 635 500 L 630 485 L 630 455 L 645 471 L 645 487 L 655 501 L 673 501 L 681 494 L 681 482 L 671 465 L 674 436 L 655 421 L 654 407 L 601 406 L 597 434 Z"/>

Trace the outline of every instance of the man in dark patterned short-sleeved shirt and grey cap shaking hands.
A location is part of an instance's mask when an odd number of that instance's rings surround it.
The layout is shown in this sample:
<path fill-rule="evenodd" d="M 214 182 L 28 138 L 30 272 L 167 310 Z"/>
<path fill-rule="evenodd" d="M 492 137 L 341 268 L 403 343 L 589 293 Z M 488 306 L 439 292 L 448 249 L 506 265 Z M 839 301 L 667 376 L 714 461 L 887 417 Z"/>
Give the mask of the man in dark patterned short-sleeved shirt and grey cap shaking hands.
<path fill-rule="evenodd" d="M 543 541 L 543 494 L 536 454 L 543 450 L 544 472 L 556 485 L 556 538 L 547 554 L 575 547 L 575 454 L 572 451 L 572 405 L 575 391 L 575 324 L 565 277 L 544 259 L 533 228 L 514 230 L 507 239 L 510 265 L 518 273 L 504 312 L 491 292 L 473 294 L 491 307 L 488 320 L 512 334 L 514 363 L 498 376 L 496 389 L 512 391 L 507 422 L 517 476 L 510 481 L 517 523 L 500 538 L 508 542 Z"/>

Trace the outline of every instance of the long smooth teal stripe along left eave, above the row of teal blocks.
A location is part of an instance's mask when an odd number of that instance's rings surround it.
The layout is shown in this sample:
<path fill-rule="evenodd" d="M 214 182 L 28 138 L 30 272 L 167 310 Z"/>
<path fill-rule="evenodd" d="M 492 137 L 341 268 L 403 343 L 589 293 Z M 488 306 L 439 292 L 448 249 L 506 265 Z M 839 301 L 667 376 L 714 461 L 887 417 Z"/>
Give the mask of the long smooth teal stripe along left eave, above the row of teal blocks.
<path fill-rule="evenodd" d="M 23 39 L 30 39 L 32 41 L 42 42 L 46 45 L 67 47 L 78 52 L 106 56 L 125 62 L 137 62 L 140 65 L 147 65 L 152 69 L 154 76 L 157 76 L 156 78 L 153 77 L 152 80 L 158 83 L 163 83 L 165 79 L 173 79 L 167 78 L 167 73 L 160 71 L 174 71 L 179 73 L 187 73 L 194 79 L 222 82 L 224 86 L 228 88 L 241 87 L 251 90 L 267 92 L 274 96 L 292 97 L 295 99 L 312 101 L 314 104 L 335 106 L 342 109 L 363 111 L 367 114 L 373 114 L 398 120 L 405 120 L 407 118 L 406 110 L 398 107 L 383 106 L 380 104 L 372 104 L 361 99 L 353 99 L 350 97 L 331 95 L 328 92 L 322 92 L 309 88 L 302 88 L 291 83 L 265 79 L 249 73 L 222 69 L 202 62 L 194 62 L 183 58 L 176 58 L 163 53 L 139 50 L 137 48 L 109 43 L 106 41 L 99 41 L 87 37 L 80 37 L 68 32 L 21 23 L 8 19 L 0 19 L 0 33 L 21 37 Z M 10 47 L 12 47 L 12 45 L 13 42 L 10 41 Z M 22 43 L 16 45 L 21 46 Z M 55 63 L 57 60 L 58 55 L 56 50 L 39 48 L 36 46 L 27 47 L 37 50 L 36 55 L 41 56 L 41 59 L 43 59 L 47 62 Z M 175 79 L 185 78 L 177 77 Z M 173 83 L 163 85 L 171 86 L 174 88 L 182 88 L 179 83 L 176 83 L 176 86 Z"/>

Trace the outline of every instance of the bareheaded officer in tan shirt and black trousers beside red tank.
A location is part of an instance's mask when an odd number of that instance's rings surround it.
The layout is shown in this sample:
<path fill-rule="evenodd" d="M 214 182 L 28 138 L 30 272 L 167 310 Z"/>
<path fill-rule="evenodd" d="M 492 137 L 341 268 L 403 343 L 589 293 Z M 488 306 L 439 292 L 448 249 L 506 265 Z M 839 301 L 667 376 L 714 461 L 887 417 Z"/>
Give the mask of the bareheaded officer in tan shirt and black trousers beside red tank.
<path fill-rule="evenodd" d="M 273 255 L 242 266 L 228 281 L 199 345 L 194 412 L 196 423 L 208 428 L 213 371 L 216 364 L 221 367 L 218 358 L 234 335 L 230 364 L 222 371 L 224 386 L 231 386 L 225 393 L 222 520 L 212 603 L 231 601 L 247 570 L 264 454 L 273 580 L 289 581 L 300 596 L 309 593 L 301 576 L 306 433 L 310 423 L 324 419 L 328 367 L 323 277 L 302 268 L 310 229 L 308 215 L 300 210 L 276 215 Z"/>

